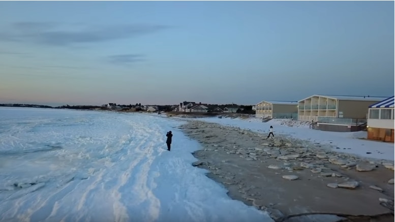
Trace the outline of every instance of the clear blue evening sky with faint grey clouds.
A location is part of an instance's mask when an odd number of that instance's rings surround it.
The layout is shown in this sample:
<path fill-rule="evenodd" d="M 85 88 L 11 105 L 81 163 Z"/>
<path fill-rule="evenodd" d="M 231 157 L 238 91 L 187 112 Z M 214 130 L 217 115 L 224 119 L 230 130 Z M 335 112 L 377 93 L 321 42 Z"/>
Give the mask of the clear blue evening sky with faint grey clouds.
<path fill-rule="evenodd" d="M 0 103 L 393 96 L 393 1 L 0 1 Z"/>

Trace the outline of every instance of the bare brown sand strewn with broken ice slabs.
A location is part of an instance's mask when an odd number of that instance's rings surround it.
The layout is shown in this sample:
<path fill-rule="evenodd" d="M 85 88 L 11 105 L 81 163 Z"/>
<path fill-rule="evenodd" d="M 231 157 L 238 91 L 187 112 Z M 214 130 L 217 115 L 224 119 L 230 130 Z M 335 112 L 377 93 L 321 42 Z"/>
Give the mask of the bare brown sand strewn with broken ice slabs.
<path fill-rule="evenodd" d="M 394 220 L 393 162 L 198 120 L 180 128 L 202 144 L 194 166 L 275 221 Z"/>

